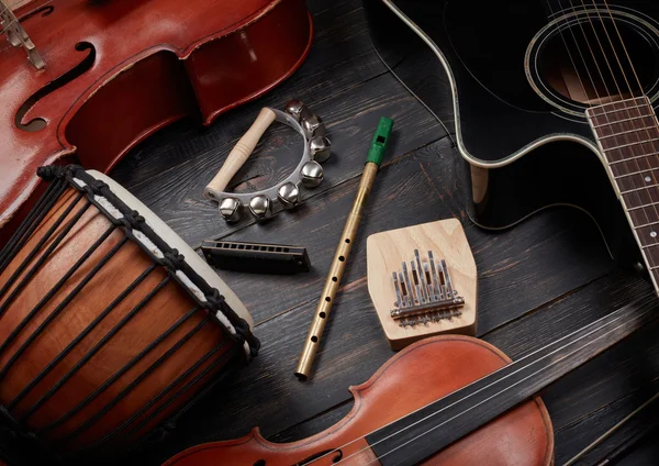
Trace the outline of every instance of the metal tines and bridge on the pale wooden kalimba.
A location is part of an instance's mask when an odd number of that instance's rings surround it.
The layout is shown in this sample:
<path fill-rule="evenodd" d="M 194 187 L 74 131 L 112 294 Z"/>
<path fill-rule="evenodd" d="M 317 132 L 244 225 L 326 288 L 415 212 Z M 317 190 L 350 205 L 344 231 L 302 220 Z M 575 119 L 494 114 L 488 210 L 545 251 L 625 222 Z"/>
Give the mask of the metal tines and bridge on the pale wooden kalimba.
<path fill-rule="evenodd" d="M 461 315 L 465 298 L 453 288 L 445 259 L 435 260 L 428 251 L 427 260 L 422 262 L 418 249 L 414 249 L 410 268 L 404 262 L 401 268 L 401 273 L 392 274 L 396 303 L 390 312 L 400 326 L 426 325 Z"/>

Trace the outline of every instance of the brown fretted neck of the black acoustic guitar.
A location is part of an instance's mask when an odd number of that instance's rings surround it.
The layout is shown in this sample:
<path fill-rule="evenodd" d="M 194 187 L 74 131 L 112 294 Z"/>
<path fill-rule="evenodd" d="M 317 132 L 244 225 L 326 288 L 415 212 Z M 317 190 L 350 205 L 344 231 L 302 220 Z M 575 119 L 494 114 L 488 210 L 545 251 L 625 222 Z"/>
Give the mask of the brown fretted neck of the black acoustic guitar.
<path fill-rule="evenodd" d="M 587 110 L 589 123 L 659 293 L 659 122 L 639 97 Z"/>

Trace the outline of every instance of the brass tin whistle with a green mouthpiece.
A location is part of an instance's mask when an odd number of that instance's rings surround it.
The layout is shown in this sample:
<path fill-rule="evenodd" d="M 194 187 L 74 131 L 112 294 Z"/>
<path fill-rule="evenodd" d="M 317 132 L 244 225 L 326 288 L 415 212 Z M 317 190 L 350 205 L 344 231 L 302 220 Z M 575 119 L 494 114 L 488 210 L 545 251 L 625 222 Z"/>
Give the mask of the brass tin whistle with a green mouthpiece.
<path fill-rule="evenodd" d="M 302 350 L 302 355 L 300 356 L 300 362 L 295 369 L 295 376 L 300 380 L 306 380 L 311 374 L 313 360 L 319 350 L 325 324 L 330 318 L 332 301 L 334 301 L 334 296 L 340 285 L 340 279 L 346 268 L 346 262 L 350 254 L 350 248 L 353 247 L 359 222 L 361 221 L 361 212 L 364 211 L 368 193 L 373 186 L 376 175 L 380 168 L 382 158 L 384 157 L 392 127 L 393 120 L 382 116 L 378 124 L 378 129 L 376 130 L 376 134 L 373 134 L 359 188 L 357 189 L 357 197 L 355 198 L 355 202 L 353 202 L 353 209 L 350 210 L 343 234 L 338 241 L 336 254 L 334 255 L 330 274 L 327 274 L 325 287 L 323 288 L 323 293 L 321 295 L 319 306 L 313 315 L 313 321 L 309 329 L 306 341 L 304 342 L 304 348 Z"/>

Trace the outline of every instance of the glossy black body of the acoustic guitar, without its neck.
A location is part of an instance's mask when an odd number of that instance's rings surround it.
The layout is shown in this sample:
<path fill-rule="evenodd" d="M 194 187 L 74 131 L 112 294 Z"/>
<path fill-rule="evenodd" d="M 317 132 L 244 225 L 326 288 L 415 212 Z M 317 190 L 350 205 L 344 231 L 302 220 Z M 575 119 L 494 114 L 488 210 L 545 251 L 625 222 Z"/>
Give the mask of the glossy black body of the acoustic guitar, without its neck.
<path fill-rule="evenodd" d="M 612 35 L 621 30 L 633 62 L 643 62 L 643 90 L 657 107 L 659 3 L 607 4 L 365 0 L 373 44 L 393 73 L 436 115 L 453 107 L 476 223 L 502 229 L 550 206 L 573 206 L 596 221 L 614 257 L 636 263 L 638 246 L 583 102 L 594 104 L 597 87 L 603 93 L 623 78 L 585 82 L 587 90 L 578 84 L 588 80 L 584 68 L 560 74 L 580 60 L 594 74 L 587 52 L 590 44 L 601 58 L 591 31 L 593 18 L 603 19 L 600 37 L 607 37 L 604 27 Z"/>

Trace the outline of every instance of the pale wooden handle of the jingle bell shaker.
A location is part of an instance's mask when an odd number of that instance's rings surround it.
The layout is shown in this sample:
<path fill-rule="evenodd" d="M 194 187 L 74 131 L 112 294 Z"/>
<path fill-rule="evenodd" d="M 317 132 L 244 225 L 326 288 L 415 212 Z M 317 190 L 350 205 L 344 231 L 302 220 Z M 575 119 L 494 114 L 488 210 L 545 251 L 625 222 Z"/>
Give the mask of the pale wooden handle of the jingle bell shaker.
<path fill-rule="evenodd" d="M 216 200 L 213 191 L 223 192 L 226 190 L 228 181 L 231 181 L 241 167 L 245 165 L 245 162 L 247 162 L 247 158 L 249 158 L 254 152 L 258 141 L 270 124 L 272 124 L 276 116 L 275 112 L 267 107 L 261 109 L 252 126 L 249 126 L 249 130 L 247 130 L 243 137 L 236 143 L 235 147 L 228 153 L 228 157 L 226 157 L 226 160 L 224 162 L 224 165 L 222 165 L 222 168 L 220 168 L 220 171 L 217 171 L 217 175 L 215 175 L 211 182 L 204 188 L 203 195 L 206 198 Z"/>

